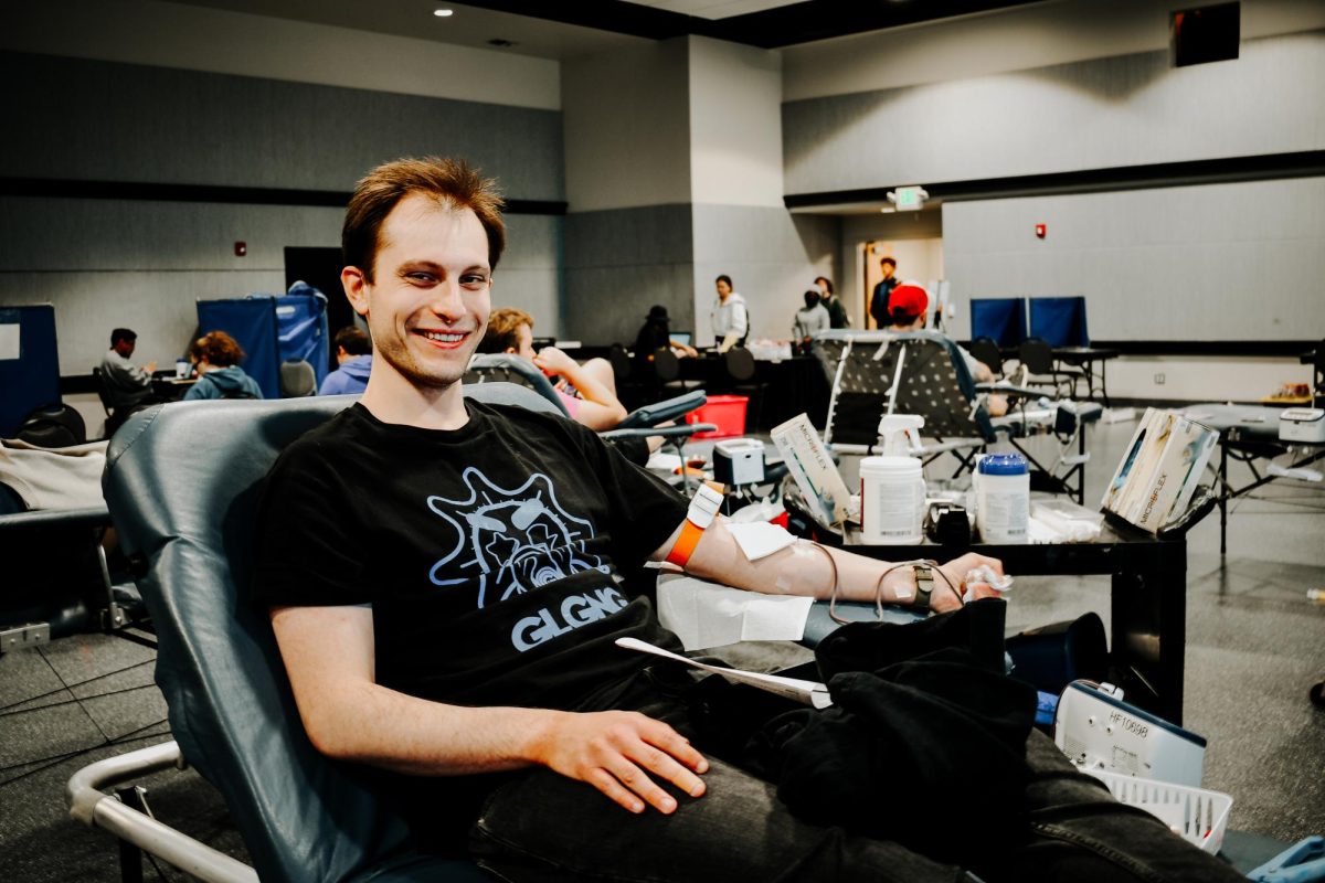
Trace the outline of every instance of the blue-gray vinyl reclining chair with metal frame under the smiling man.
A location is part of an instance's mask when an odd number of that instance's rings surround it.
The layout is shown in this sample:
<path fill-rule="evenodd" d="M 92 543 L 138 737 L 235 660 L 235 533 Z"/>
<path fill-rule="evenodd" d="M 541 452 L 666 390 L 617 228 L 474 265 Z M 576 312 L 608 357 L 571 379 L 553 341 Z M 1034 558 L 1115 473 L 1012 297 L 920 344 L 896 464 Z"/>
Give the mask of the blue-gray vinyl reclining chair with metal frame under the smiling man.
<path fill-rule="evenodd" d="M 511 384 L 465 395 L 551 410 Z M 107 454 L 106 502 L 156 625 L 156 683 L 175 741 L 83 768 L 66 797 L 76 819 L 203 880 L 490 879 L 468 859 L 411 850 L 405 822 L 363 770 L 313 748 L 268 612 L 250 597 L 262 478 L 286 445 L 354 401 L 159 406 L 135 414 Z M 102 790 L 182 763 L 225 798 L 252 868 Z"/>

